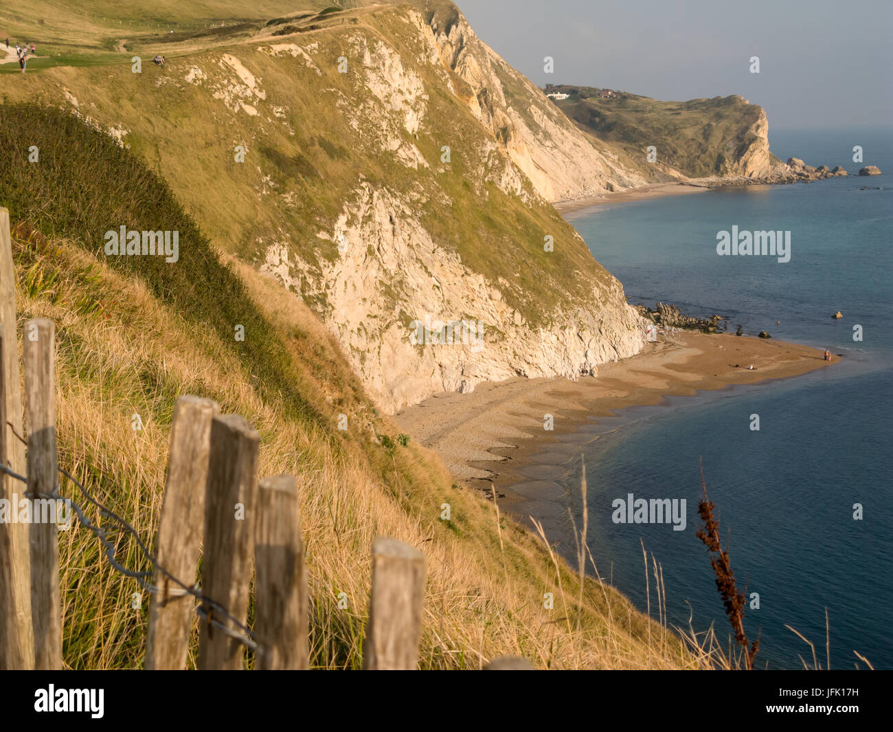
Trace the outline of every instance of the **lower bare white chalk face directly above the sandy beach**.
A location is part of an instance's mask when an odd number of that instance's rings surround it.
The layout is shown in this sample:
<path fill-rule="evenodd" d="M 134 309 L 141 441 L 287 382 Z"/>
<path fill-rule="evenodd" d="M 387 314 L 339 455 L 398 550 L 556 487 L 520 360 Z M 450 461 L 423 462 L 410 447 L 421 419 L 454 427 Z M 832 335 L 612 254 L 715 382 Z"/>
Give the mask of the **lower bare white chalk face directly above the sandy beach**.
<path fill-rule="evenodd" d="M 369 184 L 345 206 L 332 241 L 320 242 L 341 253 L 321 258 L 318 271 L 289 262 L 278 244 L 262 270 L 294 287 L 314 282 L 312 294 L 329 303 L 326 324 L 389 413 L 481 381 L 594 375 L 598 364 L 644 345 L 642 323 L 613 279 L 590 303 L 530 328 L 498 286 L 431 240 L 411 206 Z"/>

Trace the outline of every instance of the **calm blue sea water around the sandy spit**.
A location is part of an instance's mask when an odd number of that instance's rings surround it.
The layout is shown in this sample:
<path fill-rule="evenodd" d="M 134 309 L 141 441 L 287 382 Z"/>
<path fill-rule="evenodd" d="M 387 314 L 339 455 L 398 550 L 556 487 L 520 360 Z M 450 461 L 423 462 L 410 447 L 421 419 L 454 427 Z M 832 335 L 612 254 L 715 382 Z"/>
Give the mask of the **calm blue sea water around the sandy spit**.
<path fill-rule="evenodd" d="M 671 623 L 729 626 L 699 526 L 698 460 L 723 538 L 747 593 L 746 628 L 761 634 L 770 668 L 825 664 L 825 611 L 832 668 L 854 651 L 893 668 L 893 130 L 774 132 L 772 150 L 807 164 L 864 163 L 884 174 L 810 184 L 710 192 L 613 205 L 569 216 L 631 302 L 672 302 L 683 312 L 731 317 L 732 328 L 845 354 L 831 369 L 756 387 L 629 410 L 585 448 L 591 551 L 603 576 L 645 609 L 640 541 L 663 564 Z M 860 190 L 870 186 L 871 190 Z M 873 188 L 880 187 L 881 190 Z M 792 255 L 718 257 L 716 233 L 789 230 Z M 840 310 L 844 318 L 830 318 Z M 780 321 L 780 324 L 776 324 Z M 864 340 L 853 340 L 862 325 Z M 758 414 L 760 430 L 749 429 Z M 613 424 L 612 424 L 613 423 Z M 619 426 L 618 425 L 622 425 Z M 568 500 L 578 468 L 564 475 Z M 688 526 L 615 525 L 612 501 L 685 498 Z M 864 507 L 854 520 L 854 504 Z M 572 507 L 578 517 L 580 506 Z M 578 518 L 579 521 L 579 518 Z M 653 614 L 655 587 L 651 585 Z"/>

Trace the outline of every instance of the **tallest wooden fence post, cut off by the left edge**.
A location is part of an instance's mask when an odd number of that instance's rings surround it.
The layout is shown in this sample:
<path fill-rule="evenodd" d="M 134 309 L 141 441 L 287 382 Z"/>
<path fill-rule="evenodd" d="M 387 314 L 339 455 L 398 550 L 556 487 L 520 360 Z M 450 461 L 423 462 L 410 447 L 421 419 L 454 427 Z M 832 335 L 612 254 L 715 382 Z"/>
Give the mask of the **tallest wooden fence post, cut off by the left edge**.
<path fill-rule="evenodd" d="M 4 349 L 0 371 L 4 387 L 3 422 L 0 423 L 0 460 L 25 475 L 25 446 L 13 433 L 22 434 L 19 347 L 16 341 L 15 267 L 9 235 L 9 212 L 0 207 L 0 333 Z M 8 423 L 8 424 L 7 424 Z M 0 498 L 24 498 L 24 486 L 9 475 L 0 475 Z M 13 505 L 12 502 L 7 505 Z M 17 510 L 17 508 L 16 508 Z M 34 635 L 31 628 L 31 570 L 28 525 L 0 524 L 0 669 L 34 668 Z"/>

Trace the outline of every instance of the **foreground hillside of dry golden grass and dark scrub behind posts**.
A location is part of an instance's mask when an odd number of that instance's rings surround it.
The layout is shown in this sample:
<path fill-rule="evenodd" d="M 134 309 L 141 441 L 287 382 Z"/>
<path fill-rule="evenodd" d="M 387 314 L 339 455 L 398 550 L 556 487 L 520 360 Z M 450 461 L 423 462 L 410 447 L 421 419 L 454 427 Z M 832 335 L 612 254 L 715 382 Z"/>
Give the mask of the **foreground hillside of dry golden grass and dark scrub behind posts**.
<path fill-rule="evenodd" d="M 428 557 L 422 668 L 479 668 L 505 653 L 543 668 L 697 665 L 609 586 L 585 580 L 578 604 L 580 585 L 563 561 L 513 522 L 497 525 L 492 502 L 453 485 L 427 450 L 381 440 L 395 436 L 394 426 L 376 414 L 301 299 L 219 254 L 219 242 L 132 150 L 57 107 L 6 102 L 0 170 L 20 332 L 37 316 L 57 327 L 60 465 L 151 545 L 177 396 L 210 397 L 246 416 L 261 433 L 261 475 L 297 476 L 314 666 L 361 663 L 376 534 Z M 179 262 L 106 257 L 101 232 L 121 224 L 179 229 Z M 246 326 L 244 342 L 235 324 Z M 347 432 L 336 429 L 340 413 Z M 131 429 L 134 414 L 141 432 Z M 445 501 L 449 522 L 439 519 Z M 136 585 L 110 570 L 92 534 L 75 528 L 61 537 L 65 663 L 140 666 L 148 598 L 131 609 Z M 133 567 L 132 540 L 112 539 L 118 560 Z M 339 592 L 347 610 L 337 607 Z M 555 610 L 543 608 L 546 592 L 555 593 Z"/>

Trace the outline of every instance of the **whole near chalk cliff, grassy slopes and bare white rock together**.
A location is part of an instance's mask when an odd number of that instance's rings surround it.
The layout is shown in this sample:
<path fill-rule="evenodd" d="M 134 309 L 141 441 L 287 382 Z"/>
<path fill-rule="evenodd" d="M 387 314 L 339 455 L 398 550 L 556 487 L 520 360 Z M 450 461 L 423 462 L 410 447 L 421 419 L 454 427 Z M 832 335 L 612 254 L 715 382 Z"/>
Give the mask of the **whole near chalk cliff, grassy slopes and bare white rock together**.
<path fill-rule="evenodd" d="M 240 26 L 141 77 L 33 80 L 163 172 L 217 247 L 304 299 L 388 412 L 485 380 L 596 374 L 645 344 L 621 283 L 549 201 L 641 185 L 647 164 L 431 4 Z M 759 112 L 724 172 L 771 167 Z"/>

